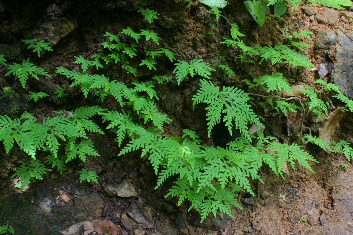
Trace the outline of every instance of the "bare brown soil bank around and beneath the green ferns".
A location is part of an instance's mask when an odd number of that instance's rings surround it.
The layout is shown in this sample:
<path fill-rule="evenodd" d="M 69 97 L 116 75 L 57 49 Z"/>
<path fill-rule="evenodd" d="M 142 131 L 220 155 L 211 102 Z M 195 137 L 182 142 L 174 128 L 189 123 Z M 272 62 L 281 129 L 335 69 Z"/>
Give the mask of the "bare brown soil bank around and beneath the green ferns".
<path fill-rule="evenodd" d="M 178 54 L 178 60 L 190 61 L 194 58 L 203 58 L 210 65 L 215 66 L 225 56 L 229 67 L 236 75 L 229 79 L 225 74 L 217 71 L 211 79 L 219 86 L 236 86 L 247 91 L 243 79 L 251 79 L 252 76 L 261 76 L 271 72 L 281 72 L 292 84 L 313 85 L 316 73 L 308 69 L 299 69 L 288 66 L 271 66 L 268 62 L 261 65 L 242 63 L 237 57 L 239 51 L 227 48 L 222 37 L 229 37 L 229 26 L 224 19 L 216 21 L 207 11 L 207 7 L 199 1 L 14 1 L 12 3 L 0 2 L 0 43 L 7 44 L 20 49 L 20 53 L 9 59 L 7 62 L 20 63 L 25 58 L 37 66 L 44 68 L 51 76 L 51 79 L 40 81 L 28 81 L 26 89 L 12 79 L 5 77 L 6 69 L 2 66 L 0 81 L 2 87 L 10 86 L 17 93 L 24 96 L 28 91 L 45 91 L 49 98 L 40 99 L 34 103 L 24 101 L 26 106 L 21 107 L 17 112 L 20 115 L 23 111 L 32 113 L 37 118 L 53 116 L 53 110 L 72 110 L 82 105 L 95 105 L 94 99 L 84 99 L 79 92 L 71 93 L 62 99 L 56 98 L 53 92 L 56 86 L 69 88 L 71 81 L 56 74 L 56 67 L 65 66 L 77 69 L 73 56 L 82 55 L 88 58 L 96 52 L 103 51 L 100 43 L 104 41 L 104 33 L 111 32 L 119 34 L 122 29 L 153 30 L 161 37 L 160 47 L 167 48 Z M 148 24 L 140 13 L 137 13 L 136 6 L 156 10 L 160 16 L 155 23 Z M 309 20 L 303 13 L 303 7 L 298 10 L 291 9 L 278 19 L 267 19 L 263 27 L 259 27 L 247 12 L 243 2 L 229 1 L 229 7 L 222 12 L 232 23 L 237 23 L 240 31 L 245 34 L 242 39 L 247 45 L 274 45 L 286 43 L 286 39 L 280 28 L 289 26 L 289 31 L 306 30 L 316 33 L 319 29 L 329 28 L 336 31 L 333 25 Z M 313 6 L 318 12 L 321 6 Z M 271 11 L 271 9 L 270 9 Z M 342 10 L 340 16 L 344 17 L 349 12 Z M 42 24 L 51 19 L 69 19 L 78 27 L 68 33 L 53 47 L 53 51 L 46 52 L 40 58 L 36 57 L 30 50 L 27 50 L 21 40 L 35 38 L 42 32 Z M 345 21 L 340 18 L 335 26 L 352 30 L 352 21 Z M 215 24 L 211 29 L 208 24 Z M 213 31 L 208 33 L 208 31 Z M 120 34 L 120 36 L 122 36 Z M 315 38 L 315 36 L 313 36 Z M 44 39 L 44 38 L 43 38 Z M 125 38 L 126 39 L 126 38 Z M 128 39 L 126 39 L 128 40 Z M 315 44 L 314 40 L 306 39 L 305 43 Z M 146 47 L 152 47 L 146 43 Z M 316 66 L 325 56 L 325 50 L 308 49 L 306 56 Z M 330 51 L 334 55 L 335 48 Z M 334 58 L 333 58 L 334 59 Z M 159 61 L 157 66 L 158 74 L 153 74 L 148 69 L 138 74 L 138 79 L 143 81 L 149 76 L 169 75 L 173 76 L 173 63 L 170 61 Z M 121 71 L 112 67 L 104 71 L 106 76 L 117 80 L 123 79 L 126 83 L 134 78 L 130 74 L 121 76 Z M 207 123 L 205 122 L 204 107 L 196 107 L 192 111 L 191 98 L 195 91 L 193 85 L 197 78 L 190 78 L 180 87 L 174 85 L 160 86 L 161 98 L 160 110 L 167 113 L 174 123 L 165 128 L 166 136 L 180 136 L 181 130 L 188 128 L 195 130 L 205 143 L 211 144 L 207 138 Z M 330 80 L 329 80 L 330 81 Z M 332 81 L 331 81 L 332 82 Z M 166 95 L 162 95 L 166 94 Z M 10 102 L 10 101 L 9 101 Z M 11 100 L 11 102 L 13 102 Z M 18 102 L 18 101 L 17 101 Z M 103 107 L 114 109 L 113 100 L 106 100 Z M 262 112 L 261 107 L 255 107 L 256 111 Z M 264 123 L 268 126 L 266 134 L 293 141 L 295 135 L 293 128 L 300 123 L 301 114 L 290 116 L 292 137 L 288 137 L 286 130 L 286 119 L 284 116 L 276 115 L 275 112 L 262 114 L 266 118 Z M 16 116 L 16 113 L 14 113 Z M 352 115 L 345 113 L 340 128 L 335 132 L 334 138 L 352 141 Z M 310 115 L 305 120 L 305 125 L 317 135 L 317 129 L 322 123 L 315 123 L 315 118 Z M 296 133 L 295 133 L 296 134 Z M 120 183 L 123 179 L 136 186 L 140 195 L 145 199 L 145 208 L 152 211 L 152 219 L 155 227 L 145 229 L 145 234 L 251 234 L 251 235 L 299 235 L 299 234 L 353 234 L 353 169 L 352 167 L 341 167 L 347 163 L 343 154 L 326 153 L 311 144 L 306 145 L 306 150 L 312 154 L 318 164 L 311 164 L 315 174 L 303 169 L 299 165 L 296 169 L 289 169 L 286 180 L 277 177 L 268 167 L 262 167 L 260 174 L 265 184 L 257 181 L 253 183 L 253 191 L 257 194 L 253 198 L 256 203 L 247 205 L 243 203 L 246 195 L 239 193 L 239 202 L 244 210 L 234 209 L 233 217 L 225 222 L 220 230 L 212 219 L 199 224 L 195 212 L 186 212 L 189 204 L 177 206 L 177 199 L 164 198 L 168 188 L 172 185 L 172 179 L 168 180 L 162 187 L 154 190 L 157 177 L 152 168 L 146 165 L 145 159 L 141 159 L 138 153 L 131 153 L 126 156 L 116 157 L 119 147 L 114 142 L 114 135 L 89 136 L 95 143 L 96 150 L 101 157 L 88 157 L 84 167 L 93 170 L 99 175 L 100 184 L 79 184 L 75 173 L 82 167 L 80 162 L 68 163 L 65 172 L 60 175 L 53 171 L 30 184 L 25 192 L 15 190 L 15 180 L 10 176 L 19 165 L 19 161 L 25 158 L 25 154 L 19 149 L 13 148 L 9 154 L 1 153 L 1 182 L 0 182 L 0 225 L 8 223 L 15 229 L 16 234 L 49 235 L 60 234 L 60 231 L 71 225 L 92 220 L 93 218 L 113 219 L 113 211 L 119 208 L 120 214 L 124 214 L 129 205 L 126 198 L 108 198 L 103 186 L 108 183 Z M 1 147 L 3 148 L 3 147 Z M 45 155 L 38 154 L 38 159 Z M 28 158 L 28 156 L 27 156 Z M 329 159 L 329 160 L 328 160 Z M 327 161 L 328 160 L 328 161 Z M 68 193 L 70 202 L 65 203 L 58 198 L 61 188 L 69 184 L 80 185 L 85 188 L 85 195 L 78 199 Z M 67 194 L 65 191 L 62 192 Z M 104 203 L 108 203 L 107 212 L 102 216 Z M 178 223 L 180 217 L 185 215 L 185 226 Z M 217 215 L 220 217 L 220 215 Z M 116 217 L 115 217 L 116 218 Z M 221 220 L 220 218 L 218 218 Z M 182 219 L 181 219 L 182 220 Z M 114 221 L 114 220 L 113 220 Z M 223 218 L 223 222 L 225 219 Z M 133 223 L 133 229 L 129 234 L 138 234 L 139 225 Z M 119 224 L 116 221 L 116 224 Z M 178 225 L 179 224 L 179 225 Z M 122 226 L 121 226 L 122 227 Z M 141 233 L 142 234 L 142 233 Z"/>

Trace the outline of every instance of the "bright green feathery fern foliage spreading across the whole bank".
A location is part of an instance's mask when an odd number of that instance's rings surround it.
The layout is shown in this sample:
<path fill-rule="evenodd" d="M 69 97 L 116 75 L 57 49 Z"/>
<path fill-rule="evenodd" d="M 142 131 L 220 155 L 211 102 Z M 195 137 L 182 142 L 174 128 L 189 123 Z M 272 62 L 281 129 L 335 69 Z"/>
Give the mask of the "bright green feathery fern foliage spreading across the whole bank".
<path fill-rule="evenodd" d="M 216 2 L 222 3 L 222 1 Z M 273 1 L 271 4 L 276 2 L 278 1 Z M 217 20 L 222 17 L 229 23 L 231 36 L 225 37 L 222 43 L 228 47 L 239 48 L 241 51 L 239 58 L 243 62 L 261 64 L 263 61 L 269 61 L 271 64 L 313 67 L 313 64 L 297 51 L 310 47 L 308 44 L 299 42 L 301 37 L 309 37 L 308 33 L 293 33 L 297 40 L 289 40 L 288 45 L 249 47 L 241 40 L 244 35 L 239 31 L 238 25 L 222 16 L 219 8 L 224 7 L 223 5 L 211 5 L 210 12 Z M 149 9 L 140 8 L 139 12 L 149 23 L 158 16 L 157 12 Z M 248 128 L 251 124 L 263 126 L 262 117 L 252 109 L 254 104 L 252 93 L 234 86 L 215 86 L 210 80 L 215 68 L 201 59 L 192 59 L 190 62 L 176 61 L 177 55 L 172 51 L 158 48 L 162 39 L 155 32 L 147 29 L 136 31 L 126 27 L 120 33 L 130 38 L 127 41 L 129 43 L 123 43 L 118 35 L 107 32 L 104 35 L 107 41 L 101 43 L 102 52 L 92 55 L 89 59 L 82 55 L 74 57 L 76 59 L 74 63 L 81 66 L 80 71 L 62 66 L 56 70 L 59 75 L 72 81 L 72 87 L 81 89 L 85 98 L 93 94 L 97 103 L 102 104 L 107 97 L 113 97 L 116 100 L 116 109 L 83 106 L 71 111 L 56 111 L 57 116 L 43 120 L 38 120 L 29 113 L 14 119 L 0 116 L 0 141 L 3 142 L 6 153 L 9 153 L 16 143 L 30 157 L 29 160 L 20 162 L 21 165 L 12 175 L 20 178 L 18 187 L 23 189 L 30 183 L 31 178 L 41 179 L 44 173 L 51 171 L 47 168 L 49 165 L 62 173 L 65 170 L 65 164 L 75 158 L 85 162 L 89 155 L 99 156 L 86 132 L 104 134 L 104 131 L 92 122 L 92 116 L 100 116 L 106 130 L 114 133 L 115 141 L 121 148 L 118 156 L 139 150 L 140 156 L 150 162 L 155 174 L 158 175 L 156 188 L 162 186 L 168 178 L 175 176 L 177 180 L 166 197 L 178 197 L 179 205 L 186 200 L 190 201 L 189 210 L 198 211 L 201 214 L 201 222 L 209 214 L 216 216 L 217 212 L 223 212 L 232 216 L 232 206 L 241 208 L 236 198 L 237 193 L 246 191 L 255 195 L 250 181 L 263 182 L 258 174 L 258 170 L 263 165 L 267 165 L 282 178 L 284 178 L 283 167 L 287 163 L 293 168 L 300 165 L 313 172 L 310 162 L 317 163 L 317 160 L 304 151 L 305 142 L 287 144 L 280 143 L 274 137 L 265 136 L 262 132 L 257 132 L 255 135 L 249 134 Z M 153 47 L 158 49 L 141 47 L 140 43 L 144 41 L 143 39 L 153 42 Z M 199 89 L 193 95 L 192 101 L 193 106 L 200 103 L 207 105 L 208 137 L 214 126 L 220 122 L 225 123 L 230 135 L 232 135 L 232 129 L 237 128 L 242 136 L 229 143 L 225 149 L 202 144 L 196 132 L 189 129 L 184 129 L 181 137 L 166 136 L 164 125 L 173 121 L 158 109 L 159 94 L 155 86 L 156 83 L 163 84 L 172 78 L 156 75 L 149 80 L 125 83 L 123 79 L 109 78 L 100 72 L 102 68 L 118 64 L 124 74 L 136 76 L 138 66 L 157 70 L 159 62 L 157 58 L 161 56 L 166 56 L 171 63 L 176 61 L 173 73 L 178 85 L 190 77 L 199 78 Z M 0 55 L 0 63 L 6 66 L 5 62 L 4 56 Z M 28 74 L 34 78 L 41 73 L 49 76 L 36 66 L 26 63 L 28 61 L 24 61 L 22 66 L 15 63 L 16 67 L 9 66 L 10 72 L 7 75 L 13 74 L 23 87 Z M 228 64 L 220 64 L 219 67 L 225 70 L 227 76 L 234 76 L 235 73 Z M 23 75 L 24 68 L 27 69 L 25 75 Z M 249 89 L 255 91 L 262 89 L 262 92 L 270 94 L 262 95 L 263 98 L 267 98 L 267 103 L 262 104 L 265 109 L 270 109 L 269 106 L 272 105 L 273 109 L 284 115 L 306 107 L 315 113 L 318 119 L 327 117 L 328 103 L 321 99 L 321 92 L 332 92 L 332 97 L 343 102 L 345 109 L 353 110 L 352 101 L 345 97 L 336 85 L 327 84 L 323 80 L 317 80 L 321 90 L 309 86 L 300 90 L 307 97 L 303 102 L 298 101 L 298 99 L 301 100 L 300 98 L 281 99 L 282 92 L 286 91 L 292 95 L 293 93 L 290 84 L 280 72 L 244 82 Z M 62 96 L 60 89 L 55 93 Z M 38 99 L 45 95 L 38 92 L 31 93 L 30 96 L 32 99 Z M 293 102 L 295 100 L 297 103 Z M 330 149 L 337 153 L 343 151 L 348 160 L 353 155 L 353 149 L 345 141 L 328 144 L 309 134 L 302 137 L 305 141 L 323 149 Z M 39 151 L 47 153 L 46 161 L 40 162 L 40 159 L 37 159 Z M 78 173 L 81 181 L 98 182 L 97 175 L 92 171 L 82 169 Z"/>

